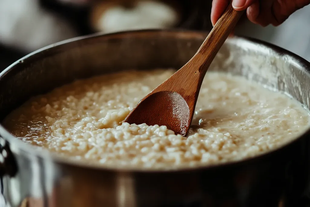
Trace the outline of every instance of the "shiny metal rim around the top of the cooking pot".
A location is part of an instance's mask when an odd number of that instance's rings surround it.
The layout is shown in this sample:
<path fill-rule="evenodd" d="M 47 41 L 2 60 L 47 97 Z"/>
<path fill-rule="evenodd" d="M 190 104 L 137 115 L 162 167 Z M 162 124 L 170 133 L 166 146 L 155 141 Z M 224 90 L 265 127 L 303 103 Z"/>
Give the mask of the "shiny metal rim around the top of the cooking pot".
<path fill-rule="evenodd" d="M 116 33 L 109 33 L 109 34 L 103 34 L 103 33 L 95 33 L 91 35 L 86 36 L 80 36 L 75 38 L 70 38 L 58 43 L 54 43 L 51 45 L 48 45 L 46 47 L 43 47 L 41 49 L 38 49 L 34 52 L 29 53 L 28 55 L 20 58 L 19 60 L 12 63 L 10 66 L 8 66 L 5 70 L 3 70 L 0 73 L 0 81 L 3 76 L 10 73 L 12 70 L 14 70 L 14 67 L 18 64 L 24 63 L 24 60 L 29 59 L 29 57 L 33 57 L 38 55 L 41 52 L 45 52 L 48 49 L 54 48 L 54 47 L 60 47 L 62 45 L 70 44 L 77 41 L 82 41 L 86 39 L 92 39 L 92 38 L 124 38 L 126 35 L 130 35 L 131 38 L 139 37 L 139 35 L 144 36 L 145 34 L 148 35 L 154 35 L 158 36 L 161 35 L 163 37 L 180 37 L 180 36 L 190 36 L 192 38 L 205 38 L 208 32 L 206 31 L 195 31 L 195 30 L 184 30 L 184 29 L 145 29 L 145 30 L 130 30 L 130 31 L 122 31 L 122 32 L 116 32 Z M 260 52 L 263 53 L 271 53 L 274 54 L 277 58 L 286 59 L 290 62 L 290 64 L 295 65 L 299 68 L 299 70 L 305 70 L 310 75 L 310 62 L 305 60 L 304 58 L 294 54 L 293 52 L 290 52 L 286 49 L 283 49 L 281 47 L 278 47 L 276 45 L 273 45 L 271 43 L 267 43 L 262 40 L 258 40 L 255 38 L 249 38 L 249 37 L 243 37 L 243 36 L 234 36 L 228 38 L 227 42 L 235 43 L 237 46 L 238 44 L 242 43 L 242 47 L 244 45 L 247 48 L 253 48 L 258 49 Z M 52 160 L 58 164 L 65 164 L 73 167 L 82 167 L 82 168 L 88 168 L 88 169 L 97 169 L 97 170 L 106 170 L 106 171 L 117 171 L 117 172 L 143 172 L 143 173 L 161 173 L 161 172 L 185 172 L 185 171 L 191 171 L 191 170 L 207 170 L 207 169 L 214 169 L 219 167 L 228 167 L 232 165 L 242 165 L 248 162 L 253 162 L 257 159 L 262 159 L 263 157 L 270 156 L 277 151 L 284 150 L 289 145 L 298 142 L 300 139 L 304 138 L 306 134 L 310 133 L 310 127 L 302 134 L 300 134 L 299 137 L 291 140 L 290 142 L 287 142 L 285 145 L 280 146 L 276 149 L 273 149 L 271 151 L 264 152 L 262 154 L 256 155 L 254 157 L 248 157 L 246 159 L 242 160 L 235 160 L 235 161 L 229 161 L 225 163 L 218 163 L 218 164 L 210 164 L 207 166 L 199 165 L 196 167 L 188 167 L 188 166 L 180 166 L 175 168 L 167 168 L 167 169 L 142 169 L 138 167 L 132 167 L 132 166 L 116 166 L 116 165 L 98 165 L 96 163 L 87 162 L 84 160 L 70 160 L 67 158 L 64 158 L 64 156 L 60 156 L 57 153 L 51 153 L 48 150 L 39 150 L 38 148 L 29 145 L 26 142 L 23 142 L 22 140 L 18 139 L 11 133 L 9 133 L 0 123 L 0 135 L 2 135 L 2 138 L 7 140 L 9 144 L 13 144 L 14 146 L 17 146 L 18 149 L 24 150 L 25 152 L 29 153 L 32 156 L 36 156 L 39 158 L 42 158 L 44 160 Z"/>

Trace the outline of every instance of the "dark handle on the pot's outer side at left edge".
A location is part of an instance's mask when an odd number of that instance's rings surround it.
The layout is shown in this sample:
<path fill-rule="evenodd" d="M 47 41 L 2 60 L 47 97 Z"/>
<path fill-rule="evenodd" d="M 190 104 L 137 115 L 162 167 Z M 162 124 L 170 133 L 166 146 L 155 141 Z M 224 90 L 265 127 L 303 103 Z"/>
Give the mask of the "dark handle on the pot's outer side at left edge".
<path fill-rule="evenodd" d="M 17 173 L 17 165 L 15 158 L 10 150 L 9 142 L 0 136 L 0 177 L 9 175 L 15 176 Z"/>

